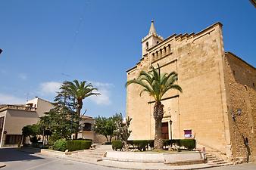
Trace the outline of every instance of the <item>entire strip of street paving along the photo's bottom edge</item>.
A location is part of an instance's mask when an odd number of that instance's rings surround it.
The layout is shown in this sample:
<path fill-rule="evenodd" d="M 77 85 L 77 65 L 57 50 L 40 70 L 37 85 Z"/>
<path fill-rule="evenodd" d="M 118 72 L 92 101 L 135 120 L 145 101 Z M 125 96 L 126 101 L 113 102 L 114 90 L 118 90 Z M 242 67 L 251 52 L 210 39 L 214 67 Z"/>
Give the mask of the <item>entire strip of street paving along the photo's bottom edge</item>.
<path fill-rule="evenodd" d="M 86 163 L 83 159 L 74 159 L 73 157 L 43 156 L 40 153 L 27 153 L 20 152 L 15 148 L 0 149 L 0 162 L 5 163 L 6 167 L 1 170 L 66 170 L 66 169 L 201 169 L 207 168 L 208 170 L 255 170 L 256 163 L 242 164 L 242 165 L 229 165 L 222 167 L 209 168 L 205 165 L 182 165 L 170 166 L 159 165 L 154 163 L 133 163 L 133 162 L 89 162 Z M 111 168 L 114 167 L 114 168 Z"/>

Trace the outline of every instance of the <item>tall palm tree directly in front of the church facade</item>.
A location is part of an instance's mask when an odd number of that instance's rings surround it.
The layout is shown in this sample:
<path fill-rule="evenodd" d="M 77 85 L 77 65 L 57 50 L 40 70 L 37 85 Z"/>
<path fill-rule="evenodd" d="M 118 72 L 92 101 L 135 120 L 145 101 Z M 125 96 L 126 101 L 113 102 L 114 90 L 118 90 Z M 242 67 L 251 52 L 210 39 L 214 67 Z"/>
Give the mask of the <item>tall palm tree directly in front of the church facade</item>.
<path fill-rule="evenodd" d="M 161 74 L 160 66 L 155 69 L 151 66 L 151 71 L 146 73 L 142 71 L 137 79 L 132 79 L 126 82 L 126 87 L 130 84 L 137 84 L 142 86 L 142 91 L 140 92 L 140 96 L 143 92 L 148 92 L 151 97 L 155 99 L 154 106 L 154 119 L 155 119 L 155 141 L 154 141 L 154 149 L 162 150 L 163 149 L 163 139 L 161 136 L 161 125 L 162 119 L 164 116 L 164 105 L 161 104 L 161 99 L 164 94 L 167 93 L 170 89 L 176 89 L 182 92 L 182 88 L 180 85 L 175 85 L 174 82 L 177 80 L 177 73 L 164 73 Z"/>

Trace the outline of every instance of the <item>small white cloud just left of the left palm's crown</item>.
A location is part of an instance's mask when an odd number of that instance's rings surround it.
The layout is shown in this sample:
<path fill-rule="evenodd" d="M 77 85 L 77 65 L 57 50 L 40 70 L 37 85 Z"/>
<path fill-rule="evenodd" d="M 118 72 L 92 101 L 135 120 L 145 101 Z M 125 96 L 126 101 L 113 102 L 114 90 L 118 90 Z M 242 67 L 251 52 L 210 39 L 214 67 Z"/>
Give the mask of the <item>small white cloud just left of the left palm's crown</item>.
<path fill-rule="evenodd" d="M 61 87 L 61 82 L 42 82 L 39 85 L 40 92 L 42 95 L 55 95 L 59 88 Z"/>

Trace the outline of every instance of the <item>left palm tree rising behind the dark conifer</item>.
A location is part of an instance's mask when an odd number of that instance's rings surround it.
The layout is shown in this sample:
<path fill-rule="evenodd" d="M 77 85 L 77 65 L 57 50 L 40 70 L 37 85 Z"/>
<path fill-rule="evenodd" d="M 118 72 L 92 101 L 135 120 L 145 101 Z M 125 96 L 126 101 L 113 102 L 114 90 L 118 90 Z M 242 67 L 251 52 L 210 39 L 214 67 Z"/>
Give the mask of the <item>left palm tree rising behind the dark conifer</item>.
<path fill-rule="evenodd" d="M 76 79 L 73 80 L 73 82 L 64 82 L 61 88 L 75 98 L 76 114 L 79 117 L 83 108 L 83 99 L 92 95 L 100 95 L 100 93 L 94 92 L 98 91 L 98 88 L 94 88 L 92 83 L 86 84 L 86 81 L 78 82 Z M 77 133 L 75 134 L 75 138 L 77 138 Z"/>

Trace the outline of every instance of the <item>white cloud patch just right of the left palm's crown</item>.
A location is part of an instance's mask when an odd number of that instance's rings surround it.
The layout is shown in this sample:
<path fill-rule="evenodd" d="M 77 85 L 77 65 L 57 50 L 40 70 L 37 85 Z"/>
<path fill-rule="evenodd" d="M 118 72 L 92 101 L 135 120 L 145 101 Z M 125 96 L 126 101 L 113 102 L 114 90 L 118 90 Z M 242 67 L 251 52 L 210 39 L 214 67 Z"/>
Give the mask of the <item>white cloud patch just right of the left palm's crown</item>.
<path fill-rule="evenodd" d="M 89 97 L 93 102 L 95 102 L 95 104 L 98 105 L 110 105 L 111 102 L 111 91 L 109 88 L 114 87 L 113 84 L 111 83 L 104 83 L 104 82 L 92 82 L 92 85 L 95 88 L 98 88 L 98 93 L 100 93 L 101 95 L 97 95 L 97 96 L 91 96 Z"/>

